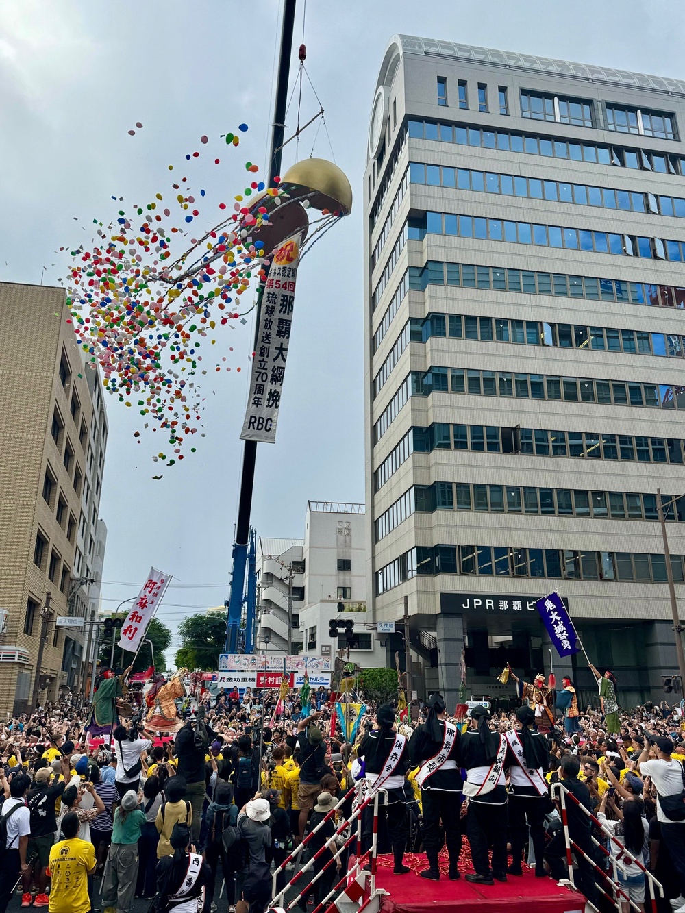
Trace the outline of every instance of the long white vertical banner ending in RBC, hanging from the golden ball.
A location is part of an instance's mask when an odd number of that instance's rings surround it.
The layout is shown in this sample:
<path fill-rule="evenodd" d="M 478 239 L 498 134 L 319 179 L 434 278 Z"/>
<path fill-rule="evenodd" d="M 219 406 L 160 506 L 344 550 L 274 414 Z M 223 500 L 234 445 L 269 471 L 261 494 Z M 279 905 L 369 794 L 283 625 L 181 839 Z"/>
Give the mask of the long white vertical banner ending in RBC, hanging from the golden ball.
<path fill-rule="evenodd" d="M 299 261 L 300 235 L 295 235 L 274 252 L 269 268 L 252 359 L 248 407 L 240 435 L 244 441 L 276 443 Z"/>

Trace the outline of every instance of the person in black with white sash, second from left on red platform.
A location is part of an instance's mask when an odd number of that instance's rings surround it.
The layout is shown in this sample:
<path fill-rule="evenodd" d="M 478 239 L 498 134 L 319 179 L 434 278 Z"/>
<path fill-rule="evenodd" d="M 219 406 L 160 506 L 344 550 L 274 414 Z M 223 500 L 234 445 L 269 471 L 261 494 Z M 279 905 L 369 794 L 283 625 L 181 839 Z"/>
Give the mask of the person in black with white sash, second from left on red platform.
<path fill-rule="evenodd" d="M 445 698 L 431 695 L 425 723 L 416 727 L 409 740 L 409 758 L 412 766 L 420 764 L 416 784 L 421 790 L 421 809 L 424 816 L 424 847 L 428 868 L 420 872 L 422 878 L 439 881 L 437 855 L 442 841 L 440 819 L 445 828 L 445 842 L 449 854 L 449 879 L 459 877 L 458 861 L 461 852 L 461 788 L 463 780 L 458 766 L 461 733 L 456 723 L 447 719 Z"/>

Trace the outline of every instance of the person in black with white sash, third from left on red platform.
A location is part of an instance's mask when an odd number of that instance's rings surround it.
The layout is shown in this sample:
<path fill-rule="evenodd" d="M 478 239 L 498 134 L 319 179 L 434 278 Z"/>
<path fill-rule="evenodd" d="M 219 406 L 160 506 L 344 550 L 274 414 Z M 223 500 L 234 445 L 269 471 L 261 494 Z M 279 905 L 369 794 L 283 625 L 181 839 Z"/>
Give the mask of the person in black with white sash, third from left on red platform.
<path fill-rule="evenodd" d="M 467 881 L 493 885 L 507 880 L 507 789 L 504 761 L 509 743 L 490 729 L 490 710 L 471 708 L 470 729 L 461 736 L 459 763 L 466 768 L 464 795 L 469 799 L 467 836 L 475 872 Z M 492 867 L 488 849 L 492 846 Z"/>

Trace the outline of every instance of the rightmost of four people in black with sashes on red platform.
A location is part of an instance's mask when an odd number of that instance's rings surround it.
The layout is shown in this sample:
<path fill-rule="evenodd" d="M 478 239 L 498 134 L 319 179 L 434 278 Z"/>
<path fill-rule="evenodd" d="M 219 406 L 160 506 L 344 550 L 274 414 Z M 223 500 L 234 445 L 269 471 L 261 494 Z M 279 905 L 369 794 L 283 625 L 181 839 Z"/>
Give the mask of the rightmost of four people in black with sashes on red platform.
<path fill-rule="evenodd" d="M 510 875 L 522 875 L 523 847 L 531 831 L 535 851 L 535 876 L 544 877 L 544 815 L 549 796 L 544 773 L 550 758 L 549 743 L 541 734 L 531 731 L 535 711 L 522 706 L 516 711 L 516 725 L 506 734 L 509 751 L 509 827 L 511 832 Z"/>

